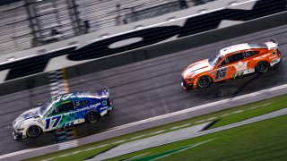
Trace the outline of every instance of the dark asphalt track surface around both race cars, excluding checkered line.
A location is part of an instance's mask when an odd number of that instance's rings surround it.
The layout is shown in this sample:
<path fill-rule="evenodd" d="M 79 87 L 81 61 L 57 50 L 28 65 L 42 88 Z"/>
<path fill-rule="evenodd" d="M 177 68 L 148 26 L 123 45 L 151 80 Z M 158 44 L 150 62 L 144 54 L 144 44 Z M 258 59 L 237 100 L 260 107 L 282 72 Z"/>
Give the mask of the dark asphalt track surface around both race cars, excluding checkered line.
<path fill-rule="evenodd" d="M 280 68 L 262 75 L 255 73 L 245 78 L 216 83 L 208 89 L 192 92 L 180 89 L 180 72 L 188 64 L 207 58 L 222 47 L 244 42 L 265 42 L 270 38 L 279 40 L 283 54 Z M 78 136 L 285 84 L 286 61 L 287 25 L 70 79 L 71 91 L 109 87 L 115 105 L 114 113 L 103 117 L 100 123 L 79 126 Z M 15 141 L 12 138 L 13 120 L 27 109 L 48 101 L 49 97 L 48 85 L 0 97 L 0 155 L 54 143 L 53 133 L 44 133 L 35 140 Z"/>

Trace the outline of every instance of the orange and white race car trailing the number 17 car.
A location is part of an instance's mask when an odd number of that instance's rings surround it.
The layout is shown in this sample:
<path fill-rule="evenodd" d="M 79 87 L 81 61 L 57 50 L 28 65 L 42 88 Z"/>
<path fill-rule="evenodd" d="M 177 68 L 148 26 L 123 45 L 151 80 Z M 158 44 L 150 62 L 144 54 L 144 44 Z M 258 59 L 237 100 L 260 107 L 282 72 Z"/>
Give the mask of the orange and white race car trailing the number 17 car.
<path fill-rule="evenodd" d="M 235 79 L 239 76 L 267 72 L 282 60 L 278 42 L 239 44 L 225 47 L 208 59 L 190 64 L 182 73 L 183 89 L 204 89 L 213 82 Z"/>

